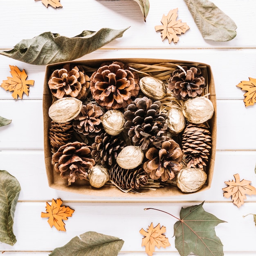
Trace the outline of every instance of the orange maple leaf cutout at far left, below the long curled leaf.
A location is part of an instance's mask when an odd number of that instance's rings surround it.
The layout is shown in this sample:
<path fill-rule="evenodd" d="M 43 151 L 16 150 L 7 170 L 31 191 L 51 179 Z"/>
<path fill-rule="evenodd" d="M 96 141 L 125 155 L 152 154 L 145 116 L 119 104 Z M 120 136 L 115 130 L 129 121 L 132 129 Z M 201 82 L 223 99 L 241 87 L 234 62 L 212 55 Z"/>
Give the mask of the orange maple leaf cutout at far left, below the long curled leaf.
<path fill-rule="evenodd" d="M 29 85 L 34 85 L 34 80 L 26 80 L 27 74 L 25 70 L 20 71 L 17 66 L 9 65 L 12 77 L 7 77 L 7 80 L 4 80 L 0 85 L 4 90 L 13 92 L 11 96 L 13 99 L 22 99 L 23 93 L 29 96 Z"/>

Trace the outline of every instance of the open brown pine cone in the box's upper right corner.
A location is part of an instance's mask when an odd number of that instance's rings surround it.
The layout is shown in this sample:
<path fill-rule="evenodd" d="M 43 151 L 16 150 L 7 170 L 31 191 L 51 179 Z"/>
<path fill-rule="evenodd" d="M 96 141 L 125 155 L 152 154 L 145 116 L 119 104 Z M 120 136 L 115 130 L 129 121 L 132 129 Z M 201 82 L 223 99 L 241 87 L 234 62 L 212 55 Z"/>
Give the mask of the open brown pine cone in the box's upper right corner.
<path fill-rule="evenodd" d="M 183 66 L 173 71 L 168 88 L 178 100 L 186 100 L 200 96 L 205 87 L 205 79 L 201 76 L 201 70 L 196 67 Z"/>

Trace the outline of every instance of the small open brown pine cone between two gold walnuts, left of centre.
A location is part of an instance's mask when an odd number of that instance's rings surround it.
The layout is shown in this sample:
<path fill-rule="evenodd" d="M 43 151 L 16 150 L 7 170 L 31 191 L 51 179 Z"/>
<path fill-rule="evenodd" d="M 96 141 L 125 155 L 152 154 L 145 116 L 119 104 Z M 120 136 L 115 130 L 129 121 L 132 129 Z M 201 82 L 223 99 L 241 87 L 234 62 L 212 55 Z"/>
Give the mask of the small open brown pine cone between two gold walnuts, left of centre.
<path fill-rule="evenodd" d="M 74 118 L 74 130 L 84 136 L 95 137 L 102 129 L 100 119 L 102 115 L 100 106 L 92 103 L 83 105 L 79 115 Z"/>

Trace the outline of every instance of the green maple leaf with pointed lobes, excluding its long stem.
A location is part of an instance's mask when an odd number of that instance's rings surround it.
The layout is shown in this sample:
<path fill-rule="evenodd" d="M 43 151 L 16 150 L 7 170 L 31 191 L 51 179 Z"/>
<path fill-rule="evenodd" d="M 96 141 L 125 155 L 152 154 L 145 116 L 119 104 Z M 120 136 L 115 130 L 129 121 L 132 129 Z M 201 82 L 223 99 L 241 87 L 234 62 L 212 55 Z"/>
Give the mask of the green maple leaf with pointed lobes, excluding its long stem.
<path fill-rule="evenodd" d="M 221 256 L 223 245 L 214 227 L 225 222 L 204 211 L 202 204 L 183 208 L 174 224 L 175 247 L 181 256 L 191 252 L 198 256 Z"/>

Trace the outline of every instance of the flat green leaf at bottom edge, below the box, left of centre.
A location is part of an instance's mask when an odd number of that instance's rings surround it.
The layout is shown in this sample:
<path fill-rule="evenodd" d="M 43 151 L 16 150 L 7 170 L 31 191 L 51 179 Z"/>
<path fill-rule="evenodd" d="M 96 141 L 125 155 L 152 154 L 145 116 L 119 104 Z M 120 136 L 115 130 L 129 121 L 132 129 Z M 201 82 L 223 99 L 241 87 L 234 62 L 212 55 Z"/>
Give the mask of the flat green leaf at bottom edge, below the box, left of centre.
<path fill-rule="evenodd" d="M 49 256 L 116 256 L 124 241 L 114 237 L 88 231 L 76 236 L 63 247 L 58 247 Z"/>

